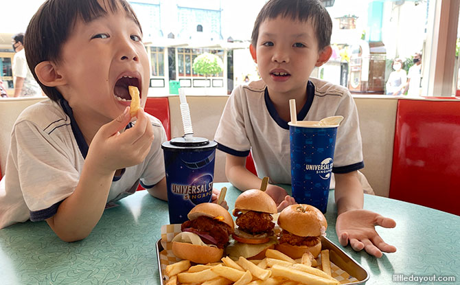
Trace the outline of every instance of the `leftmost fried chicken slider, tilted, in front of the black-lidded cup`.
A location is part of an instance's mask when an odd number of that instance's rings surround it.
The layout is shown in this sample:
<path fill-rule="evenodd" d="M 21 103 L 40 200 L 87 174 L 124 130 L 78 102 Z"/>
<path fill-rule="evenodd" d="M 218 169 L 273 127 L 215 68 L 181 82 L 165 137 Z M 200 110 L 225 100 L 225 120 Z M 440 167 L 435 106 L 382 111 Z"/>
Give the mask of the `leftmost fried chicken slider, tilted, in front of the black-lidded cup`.
<path fill-rule="evenodd" d="M 182 232 L 172 240 L 174 255 L 200 264 L 218 262 L 235 227 L 227 209 L 216 203 L 201 203 L 187 217 Z"/>

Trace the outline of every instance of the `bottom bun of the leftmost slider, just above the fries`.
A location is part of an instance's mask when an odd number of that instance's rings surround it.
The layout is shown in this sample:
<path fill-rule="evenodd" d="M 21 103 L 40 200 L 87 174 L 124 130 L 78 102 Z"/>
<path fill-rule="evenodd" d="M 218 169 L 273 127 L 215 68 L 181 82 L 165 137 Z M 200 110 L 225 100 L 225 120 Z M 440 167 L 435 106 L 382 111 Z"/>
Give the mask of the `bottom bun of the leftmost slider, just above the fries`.
<path fill-rule="evenodd" d="M 220 206 L 219 206 L 220 207 Z M 196 245 L 187 242 L 172 242 L 172 252 L 182 260 L 190 260 L 199 264 L 218 262 L 224 254 L 224 249 Z"/>

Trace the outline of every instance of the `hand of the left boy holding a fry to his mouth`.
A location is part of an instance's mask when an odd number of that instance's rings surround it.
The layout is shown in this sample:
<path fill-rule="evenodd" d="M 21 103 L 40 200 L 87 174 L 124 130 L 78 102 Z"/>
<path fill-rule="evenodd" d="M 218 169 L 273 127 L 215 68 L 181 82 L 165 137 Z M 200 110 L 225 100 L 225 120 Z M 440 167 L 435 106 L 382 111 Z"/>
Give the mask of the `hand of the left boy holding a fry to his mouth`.
<path fill-rule="evenodd" d="M 91 157 L 95 171 L 111 174 L 117 169 L 135 166 L 147 156 L 152 146 L 153 127 L 143 109 L 137 111 L 133 128 L 119 133 L 130 122 L 129 107 L 117 119 L 102 126 L 93 137 L 87 159 Z"/>

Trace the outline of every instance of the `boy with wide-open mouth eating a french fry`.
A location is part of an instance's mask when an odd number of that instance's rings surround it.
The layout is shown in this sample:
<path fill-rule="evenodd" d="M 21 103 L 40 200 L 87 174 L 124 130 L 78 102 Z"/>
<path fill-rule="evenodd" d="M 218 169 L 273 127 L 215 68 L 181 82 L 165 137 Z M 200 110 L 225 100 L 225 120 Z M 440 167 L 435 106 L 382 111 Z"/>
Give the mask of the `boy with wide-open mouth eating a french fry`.
<path fill-rule="evenodd" d="M 0 228 L 46 220 L 62 240 L 80 240 L 139 182 L 166 200 L 167 138 L 142 109 L 150 68 L 128 2 L 45 1 L 27 27 L 25 50 L 50 100 L 25 109 L 13 126 Z M 128 86 L 141 98 L 135 122 Z"/>

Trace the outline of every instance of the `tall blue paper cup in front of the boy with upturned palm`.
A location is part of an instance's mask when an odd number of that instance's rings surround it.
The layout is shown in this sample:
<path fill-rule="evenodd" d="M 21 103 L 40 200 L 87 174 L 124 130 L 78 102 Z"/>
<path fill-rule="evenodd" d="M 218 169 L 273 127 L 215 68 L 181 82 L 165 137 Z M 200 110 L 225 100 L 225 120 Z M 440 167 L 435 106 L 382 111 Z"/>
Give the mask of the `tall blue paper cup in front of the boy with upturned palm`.
<path fill-rule="evenodd" d="M 337 128 L 289 122 L 292 196 L 297 203 L 312 205 L 323 213 L 327 209 Z"/>

